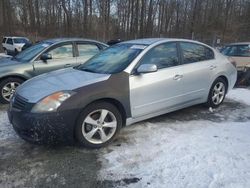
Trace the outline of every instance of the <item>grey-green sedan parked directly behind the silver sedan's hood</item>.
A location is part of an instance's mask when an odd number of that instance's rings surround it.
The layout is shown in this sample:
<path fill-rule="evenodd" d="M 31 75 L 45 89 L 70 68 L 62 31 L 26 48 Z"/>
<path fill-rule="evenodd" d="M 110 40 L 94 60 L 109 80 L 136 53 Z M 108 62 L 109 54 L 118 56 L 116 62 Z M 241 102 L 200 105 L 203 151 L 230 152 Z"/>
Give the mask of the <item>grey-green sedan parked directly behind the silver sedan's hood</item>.
<path fill-rule="evenodd" d="M 25 80 L 84 63 L 106 47 L 94 40 L 58 38 L 41 41 L 12 58 L 0 59 L 0 102 L 8 103 Z"/>

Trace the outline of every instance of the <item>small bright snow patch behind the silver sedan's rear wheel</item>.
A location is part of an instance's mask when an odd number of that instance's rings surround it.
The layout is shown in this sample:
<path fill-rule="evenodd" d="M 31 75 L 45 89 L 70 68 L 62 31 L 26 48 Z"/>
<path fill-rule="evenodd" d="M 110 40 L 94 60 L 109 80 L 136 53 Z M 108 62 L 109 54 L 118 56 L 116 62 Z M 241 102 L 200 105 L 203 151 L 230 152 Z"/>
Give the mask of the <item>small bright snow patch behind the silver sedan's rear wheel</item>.
<path fill-rule="evenodd" d="M 250 90 L 235 88 L 229 91 L 226 98 L 250 105 Z"/>

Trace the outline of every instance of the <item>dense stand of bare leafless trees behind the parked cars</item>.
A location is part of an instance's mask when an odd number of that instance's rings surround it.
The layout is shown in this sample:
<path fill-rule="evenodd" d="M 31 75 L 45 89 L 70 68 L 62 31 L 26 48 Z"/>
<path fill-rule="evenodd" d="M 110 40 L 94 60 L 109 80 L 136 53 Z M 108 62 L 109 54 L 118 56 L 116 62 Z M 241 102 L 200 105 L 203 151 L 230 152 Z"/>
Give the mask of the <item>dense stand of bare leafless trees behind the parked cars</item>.
<path fill-rule="evenodd" d="M 0 0 L 0 37 L 250 40 L 250 0 Z"/>

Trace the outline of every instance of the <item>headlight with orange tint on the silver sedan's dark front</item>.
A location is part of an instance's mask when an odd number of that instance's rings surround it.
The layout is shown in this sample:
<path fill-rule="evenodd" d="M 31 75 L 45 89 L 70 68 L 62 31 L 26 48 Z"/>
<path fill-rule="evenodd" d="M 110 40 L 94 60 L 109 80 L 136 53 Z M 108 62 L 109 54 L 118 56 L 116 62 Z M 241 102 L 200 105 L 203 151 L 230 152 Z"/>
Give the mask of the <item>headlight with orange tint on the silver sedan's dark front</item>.
<path fill-rule="evenodd" d="M 63 101 L 67 100 L 74 93 L 71 91 L 60 91 L 49 95 L 39 101 L 32 108 L 31 112 L 33 113 L 41 113 L 41 112 L 55 112 L 59 106 L 63 103 Z"/>

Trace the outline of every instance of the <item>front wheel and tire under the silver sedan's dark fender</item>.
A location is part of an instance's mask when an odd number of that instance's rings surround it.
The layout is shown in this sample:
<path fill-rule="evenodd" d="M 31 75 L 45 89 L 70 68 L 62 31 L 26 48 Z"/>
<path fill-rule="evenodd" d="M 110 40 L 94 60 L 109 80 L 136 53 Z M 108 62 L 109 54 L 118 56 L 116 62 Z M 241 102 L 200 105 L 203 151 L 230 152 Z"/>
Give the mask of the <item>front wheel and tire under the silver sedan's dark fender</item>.
<path fill-rule="evenodd" d="M 101 114 L 104 119 L 101 118 Z M 100 148 L 109 144 L 121 127 L 121 113 L 113 104 L 95 102 L 88 105 L 79 115 L 75 136 L 81 146 Z"/>

